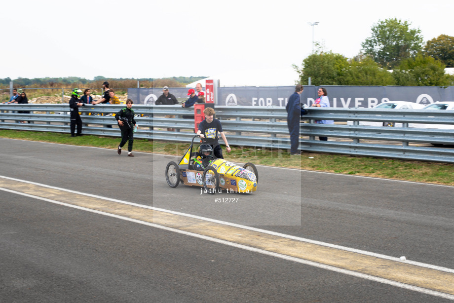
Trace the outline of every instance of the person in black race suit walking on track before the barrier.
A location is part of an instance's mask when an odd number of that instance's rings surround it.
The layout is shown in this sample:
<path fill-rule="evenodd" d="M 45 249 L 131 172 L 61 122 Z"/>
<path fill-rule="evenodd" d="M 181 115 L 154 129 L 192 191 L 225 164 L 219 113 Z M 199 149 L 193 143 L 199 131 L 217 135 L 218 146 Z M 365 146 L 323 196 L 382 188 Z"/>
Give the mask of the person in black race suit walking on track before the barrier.
<path fill-rule="evenodd" d="M 121 148 L 128 141 L 128 156 L 133 157 L 132 144 L 134 142 L 134 126 L 137 127 L 136 120 L 134 120 L 134 111 L 132 108 L 132 100 L 126 100 L 126 107 L 120 110 L 115 115 L 115 119 L 118 122 L 118 126 L 121 130 L 121 142 L 118 145 L 118 154 L 121 154 Z"/>

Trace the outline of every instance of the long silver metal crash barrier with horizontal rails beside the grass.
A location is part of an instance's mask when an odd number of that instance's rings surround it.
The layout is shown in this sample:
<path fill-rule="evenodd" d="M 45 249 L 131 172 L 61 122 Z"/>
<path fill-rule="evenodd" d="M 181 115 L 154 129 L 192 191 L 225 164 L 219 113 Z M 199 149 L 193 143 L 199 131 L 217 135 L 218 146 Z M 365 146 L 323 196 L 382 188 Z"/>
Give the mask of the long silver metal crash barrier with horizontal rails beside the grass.
<path fill-rule="evenodd" d="M 112 114 L 123 107 L 124 105 L 96 105 L 79 108 L 83 133 L 119 137 L 119 129 Z M 189 142 L 194 134 L 193 108 L 182 108 L 179 105 L 134 105 L 133 110 L 139 124 L 135 138 Z M 229 145 L 290 149 L 284 107 L 217 106 L 215 110 Z M 18 111 L 30 111 L 30 114 L 20 114 Z M 165 118 L 168 114 L 175 115 L 175 118 Z M 183 115 L 192 118 L 183 118 Z M 431 145 L 454 145 L 454 111 L 310 108 L 303 118 L 300 136 L 300 149 L 303 151 L 454 163 L 454 149 Z M 335 120 L 336 123 L 314 123 L 315 120 L 322 119 Z M 353 125 L 345 125 L 345 121 L 353 121 Z M 395 122 L 402 123 L 402 126 L 363 126 L 359 125 L 359 121 Z M 435 126 L 409 127 L 412 123 Z M 113 125 L 113 128 L 107 127 L 108 125 Z M 167 128 L 174 128 L 175 131 L 169 132 Z M 0 129 L 69 134 L 69 106 L 0 104 Z M 317 136 L 328 137 L 329 141 L 316 140 Z"/>

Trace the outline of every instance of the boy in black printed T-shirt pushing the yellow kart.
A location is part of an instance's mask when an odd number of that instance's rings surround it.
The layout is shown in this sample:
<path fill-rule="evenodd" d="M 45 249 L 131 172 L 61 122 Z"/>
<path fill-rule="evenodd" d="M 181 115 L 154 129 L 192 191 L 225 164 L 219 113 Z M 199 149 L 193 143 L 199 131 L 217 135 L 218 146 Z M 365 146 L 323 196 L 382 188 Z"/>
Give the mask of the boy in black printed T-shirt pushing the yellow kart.
<path fill-rule="evenodd" d="M 227 152 L 230 152 L 231 148 L 228 146 L 226 135 L 222 131 L 221 121 L 213 118 L 215 111 L 210 107 L 206 108 L 203 111 L 203 114 L 205 114 L 205 119 L 200 122 L 197 135 L 200 136 L 200 138 L 205 138 L 205 142 L 213 148 L 216 158 L 224 159 L 221 146 L 219 145 L 218 133 L 226 144 Z"/>

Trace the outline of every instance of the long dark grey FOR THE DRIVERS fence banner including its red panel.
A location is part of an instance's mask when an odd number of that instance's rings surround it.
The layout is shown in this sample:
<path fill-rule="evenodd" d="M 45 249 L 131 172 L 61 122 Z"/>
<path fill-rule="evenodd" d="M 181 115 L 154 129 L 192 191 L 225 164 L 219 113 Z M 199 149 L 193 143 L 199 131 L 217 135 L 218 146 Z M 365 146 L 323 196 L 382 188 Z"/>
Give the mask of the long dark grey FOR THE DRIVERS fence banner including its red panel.
<path fill-rule="evenodd" d="M 218 106 L 280 106 L 285 107 L 295 86 L 218 87 L 214 96 L 212 83 L 206 85 L 206 101 Z M 373 108 L 386 101 L 409 101 L 430 104 L 454 101 L 454 86 L 321 86 L 326 88 L 330 104 L 335 108 Z M 311 105 L 318 98 L 319 86 L 305 85 L 301 100 Z M 170 93 L 182 102 L 188 99 L 188 88 L 170 88 Z M 128 97 L 135 104 L 152 105 L 162 94 L 162 88 L 129 88 Z M 213 96 L 213 98 L 212 98 Z"/>

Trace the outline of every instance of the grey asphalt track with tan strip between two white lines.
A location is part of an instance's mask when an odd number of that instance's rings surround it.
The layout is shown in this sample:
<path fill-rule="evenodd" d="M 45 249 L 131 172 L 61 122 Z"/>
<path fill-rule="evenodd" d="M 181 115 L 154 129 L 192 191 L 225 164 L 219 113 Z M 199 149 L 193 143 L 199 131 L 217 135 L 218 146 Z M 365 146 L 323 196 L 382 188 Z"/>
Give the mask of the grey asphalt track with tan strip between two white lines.
<path fill-rule="evenodd" d="M 167 156 L 0 145 L 2 302 L 454 299 L 453 187 L 259 167 L 213 196 Z"/>

